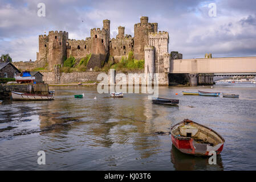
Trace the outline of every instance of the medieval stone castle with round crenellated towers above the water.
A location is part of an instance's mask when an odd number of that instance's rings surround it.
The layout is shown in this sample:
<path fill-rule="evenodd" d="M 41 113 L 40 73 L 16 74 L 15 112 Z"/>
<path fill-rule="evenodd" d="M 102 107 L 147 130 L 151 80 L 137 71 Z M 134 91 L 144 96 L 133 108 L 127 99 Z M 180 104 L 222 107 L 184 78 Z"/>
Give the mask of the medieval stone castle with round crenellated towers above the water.
<path fill-rule="evenodd" d="M 161 82 L 168 82 L 170 59 L 182 59 L 182 55 L 168 53 L 169 34 L 157 31 L 157 26 L 157 23 L 149 23 L 147 16 L 142 16 L 140 23 L 134 25 L 134 37 L 125 35 L 125 27 L 119 26 L 116 38 L 112 39 L 108 19 L 103 20 L 103 28 L 92 28 L 90 37 L 85 40 L 69 39 L 66 31 L 50 31 L 48 35 L 39 35 L 34 67 L 51 71 L 54 65 L 63 65 L 70 56 L 82 59 L 91 54 L 87 69 L 93 69 L 102 67 L 109 56 L 117 62 L 133 51 L 135 59 L 145 60 L 145 73 L 159 73 Z"/>

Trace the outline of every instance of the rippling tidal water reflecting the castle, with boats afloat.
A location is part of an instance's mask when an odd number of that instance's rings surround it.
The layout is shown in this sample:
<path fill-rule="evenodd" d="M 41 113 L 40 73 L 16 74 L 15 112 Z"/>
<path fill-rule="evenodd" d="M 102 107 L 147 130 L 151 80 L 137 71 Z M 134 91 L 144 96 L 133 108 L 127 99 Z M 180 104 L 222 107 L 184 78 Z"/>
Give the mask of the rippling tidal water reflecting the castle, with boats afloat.
<path fill-rule="evenodd" d="M 111 98 L 96 87 L 50 90 L 54 101 L 0 105 L 0 170 L 256 170 L 256 84 L 160 87 L 159 95 L 179 99 L 178 106 L 152 104 L 147 94 Z M 183 96 L 182 90 L 239 98 Z M 74 98 L 82 93 L 84 98 Z M 184 118 L 224 137 L 217 164 L 182 154 L 170 135 L 155 134 Z M 37 162 L 40 150 L 46 165 Z"/>

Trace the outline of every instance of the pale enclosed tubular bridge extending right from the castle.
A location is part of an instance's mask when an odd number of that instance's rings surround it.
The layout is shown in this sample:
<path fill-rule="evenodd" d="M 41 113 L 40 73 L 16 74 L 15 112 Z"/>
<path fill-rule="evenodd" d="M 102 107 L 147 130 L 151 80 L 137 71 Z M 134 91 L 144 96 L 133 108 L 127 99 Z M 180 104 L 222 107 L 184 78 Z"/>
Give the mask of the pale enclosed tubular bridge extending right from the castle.
<path fill-rule="evenodd" d="M 214 76 L 255 76 L 256 57 L 221 57 L 171 60 L 169 74 L 188 73 L 190 85 L 205 79 L 213 83 Z"/>

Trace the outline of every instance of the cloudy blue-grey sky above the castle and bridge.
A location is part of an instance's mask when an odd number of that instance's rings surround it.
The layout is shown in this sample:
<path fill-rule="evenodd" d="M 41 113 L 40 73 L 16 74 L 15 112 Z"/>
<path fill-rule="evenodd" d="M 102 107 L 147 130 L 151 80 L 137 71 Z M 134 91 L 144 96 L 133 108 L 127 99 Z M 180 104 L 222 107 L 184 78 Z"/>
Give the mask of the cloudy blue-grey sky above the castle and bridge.
<path fill-rule="evenodd" d="M 46 16 L 38 16 L 38 3 L 44 3 Z M 0 54 L 34 61 L 39 35 L 62 30 L 70 39 L 86 39 L 91 28 L 103 27 L 103 19 L 111 20 L 111 38 L 118 26 L 134 36 L 134 24 L 148 16 L 159 31 L 169 32 L 169 52 L 178 51 L 183 59 L 205 53 L 256 56 L 255 7 L 255 0 L 0 0 Z"/>

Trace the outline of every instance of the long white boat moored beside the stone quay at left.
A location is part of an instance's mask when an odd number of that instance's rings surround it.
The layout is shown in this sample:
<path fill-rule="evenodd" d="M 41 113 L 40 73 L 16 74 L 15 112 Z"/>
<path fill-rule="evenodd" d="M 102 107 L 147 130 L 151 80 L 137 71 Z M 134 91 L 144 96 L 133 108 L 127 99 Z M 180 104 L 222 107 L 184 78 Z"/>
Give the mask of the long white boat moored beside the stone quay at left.
<path fill-rule="evenodd" d="M 21 101 L 28 101 L 28 100 L 54 100 L 54 95 L 40 95 L 40 94 L 30 94 L 30 93 L 21 93 L 21 92 L 13 92 L 11 91 L 11 96 L 13 100 L 21 100 Z"/>

